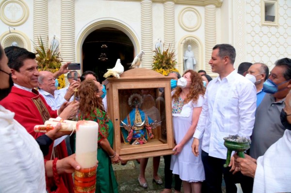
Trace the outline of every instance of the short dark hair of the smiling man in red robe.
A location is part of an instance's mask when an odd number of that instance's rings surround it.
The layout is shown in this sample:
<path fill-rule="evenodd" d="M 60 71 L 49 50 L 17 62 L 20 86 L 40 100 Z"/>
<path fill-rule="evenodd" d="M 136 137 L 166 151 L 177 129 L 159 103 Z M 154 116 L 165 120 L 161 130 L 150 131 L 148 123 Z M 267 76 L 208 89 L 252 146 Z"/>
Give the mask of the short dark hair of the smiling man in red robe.
<path fill-rule="evenodd" d="M 17 46 L 9 46 L 4 49 L 8 58 L 8 66 L 11 69 L 19 72 L 19 69 L 23 66 L 23 61 L 26 59 L 35 59 L 35 54 L 28 51 L 25 48 Z"/>

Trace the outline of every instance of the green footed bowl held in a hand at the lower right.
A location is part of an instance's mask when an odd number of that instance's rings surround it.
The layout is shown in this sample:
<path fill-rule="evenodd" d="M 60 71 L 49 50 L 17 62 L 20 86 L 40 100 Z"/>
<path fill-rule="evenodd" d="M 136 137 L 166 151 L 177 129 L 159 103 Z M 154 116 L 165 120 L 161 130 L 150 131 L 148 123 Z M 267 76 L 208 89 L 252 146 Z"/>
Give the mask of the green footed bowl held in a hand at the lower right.
<path fill-rule="evenodd" d="M 229 135 L 223 138 L 225 140 L 224 146 L 227 148 L 226 163 L 223 165 L 227 167 L 230 163 L 232 151 L 236 151 L 239 157 L 244 158 L 244 151 L 250 148 L 251 140 L 239 135 Z"/>

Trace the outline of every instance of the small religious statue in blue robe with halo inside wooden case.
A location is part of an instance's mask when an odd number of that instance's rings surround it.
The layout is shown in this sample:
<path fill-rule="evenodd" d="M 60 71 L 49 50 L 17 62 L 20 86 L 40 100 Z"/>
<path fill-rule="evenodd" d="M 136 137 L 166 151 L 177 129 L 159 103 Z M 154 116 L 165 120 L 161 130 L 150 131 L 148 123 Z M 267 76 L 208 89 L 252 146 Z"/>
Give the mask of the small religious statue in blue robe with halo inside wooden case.
<path fill-rule="evenodd" d="M 140 94 L 131 94 L 128 104 L 132 110 L 121 121 L 121 134 L 124 143 L 131 145 L 142 145 L 153 139 L 152 129 L 156 128 L 161 122 L 152 120 L 147 114 L 140 109 L 143 103 L 143 97 Z"/>

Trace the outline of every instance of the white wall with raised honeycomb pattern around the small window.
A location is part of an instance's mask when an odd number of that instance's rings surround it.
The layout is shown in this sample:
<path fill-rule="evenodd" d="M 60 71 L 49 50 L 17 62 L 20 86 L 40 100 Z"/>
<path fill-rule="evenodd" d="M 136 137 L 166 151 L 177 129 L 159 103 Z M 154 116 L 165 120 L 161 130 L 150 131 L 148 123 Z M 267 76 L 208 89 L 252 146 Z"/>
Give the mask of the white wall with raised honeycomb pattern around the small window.
<path fill-rule="evenodd" d="M 246 2 L 246 61 L 271 70 L 277 59 L 291 58 L 291 0 L 278 0 L 279 26 L 261 26 L 260 0 Z"/>

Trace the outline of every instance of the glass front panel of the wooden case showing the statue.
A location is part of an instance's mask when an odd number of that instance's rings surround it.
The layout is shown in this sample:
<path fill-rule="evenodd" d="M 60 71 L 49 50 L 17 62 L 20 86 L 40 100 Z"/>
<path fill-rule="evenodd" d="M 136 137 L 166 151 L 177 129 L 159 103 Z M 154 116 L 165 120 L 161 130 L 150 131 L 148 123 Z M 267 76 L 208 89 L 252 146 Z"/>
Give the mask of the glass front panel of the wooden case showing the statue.
<path fill-rule="evenodd" d="M 118 89 L 121 148 L 167 143 L 163 90 Z"/>

